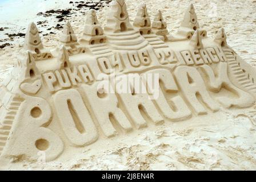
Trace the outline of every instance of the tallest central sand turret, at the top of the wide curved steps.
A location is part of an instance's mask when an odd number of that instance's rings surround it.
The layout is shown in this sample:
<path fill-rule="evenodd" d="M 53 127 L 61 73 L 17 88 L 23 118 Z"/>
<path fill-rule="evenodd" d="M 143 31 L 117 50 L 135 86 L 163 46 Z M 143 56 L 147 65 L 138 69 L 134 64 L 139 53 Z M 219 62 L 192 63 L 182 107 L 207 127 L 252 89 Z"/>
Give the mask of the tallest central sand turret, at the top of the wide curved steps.
<path fill-rule="evenodd" d="M 115 0 L 104 31 L 116 33 L 129 30 L 133 30 L 133 26 L 130 24 L 126 3 L 124 0 Z"/>

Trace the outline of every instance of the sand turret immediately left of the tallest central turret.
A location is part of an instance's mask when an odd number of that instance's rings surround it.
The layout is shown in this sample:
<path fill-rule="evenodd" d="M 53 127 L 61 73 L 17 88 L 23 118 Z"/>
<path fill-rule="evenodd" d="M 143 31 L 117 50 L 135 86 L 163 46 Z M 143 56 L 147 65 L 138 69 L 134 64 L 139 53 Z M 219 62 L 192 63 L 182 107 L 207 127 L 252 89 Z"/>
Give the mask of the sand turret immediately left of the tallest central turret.
<path fill-rule="evenodd" d="M 87 14 L 85 29 L 83 30 L 81 43 L 93 45 L 105 42 L 106 36 L 103 35 L 103 29 L 98 22 L 96 11 L 90 10 Z"/>

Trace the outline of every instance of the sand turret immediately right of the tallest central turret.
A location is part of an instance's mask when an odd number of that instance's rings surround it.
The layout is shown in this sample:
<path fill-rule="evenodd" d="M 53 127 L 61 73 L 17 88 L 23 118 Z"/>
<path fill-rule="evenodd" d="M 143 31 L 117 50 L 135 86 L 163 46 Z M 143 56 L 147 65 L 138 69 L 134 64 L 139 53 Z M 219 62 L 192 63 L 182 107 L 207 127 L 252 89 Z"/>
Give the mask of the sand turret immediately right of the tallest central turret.
<path fill-rule="evenodd" d="M 149 14 L 147 14 L 147 7 L 145 3 L 139 6 L 133 26 L 139 31 L 141 35 L 151 34 L 151 22 Z"/>

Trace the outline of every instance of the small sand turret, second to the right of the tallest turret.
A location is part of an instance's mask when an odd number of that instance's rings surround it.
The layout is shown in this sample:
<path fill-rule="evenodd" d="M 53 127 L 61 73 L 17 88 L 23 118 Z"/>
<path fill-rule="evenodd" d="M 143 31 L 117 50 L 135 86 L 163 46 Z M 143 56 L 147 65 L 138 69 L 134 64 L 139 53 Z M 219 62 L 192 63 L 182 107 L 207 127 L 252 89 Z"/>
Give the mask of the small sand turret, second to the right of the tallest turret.
<path fill-rule="evenodd" d="M 160 36 L 162 40 L 167 40 L 169 32 L 161 10 L 158 10 L 157 14 L 155 14 L 154 21 L 152 22 L 152 31 Z"/>

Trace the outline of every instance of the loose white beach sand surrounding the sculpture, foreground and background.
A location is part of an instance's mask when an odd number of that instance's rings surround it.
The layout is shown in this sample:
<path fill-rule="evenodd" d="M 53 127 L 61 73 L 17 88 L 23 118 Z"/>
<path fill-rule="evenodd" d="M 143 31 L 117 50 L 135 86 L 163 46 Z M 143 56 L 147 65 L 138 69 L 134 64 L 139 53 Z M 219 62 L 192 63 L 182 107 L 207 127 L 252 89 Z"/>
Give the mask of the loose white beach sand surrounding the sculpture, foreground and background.
<path fill-rule="evenodd" d="M 9 75 L 14 60 L 22 47 L 23 37 L 10 40 L 6 33 L 26 33 L 29 22 L 41 21 L 45 47 L 59 46 L 62 32 L 56 28 L 69 20 L 78 38 L 83 31 L 88 8 L 71 11 L 70 17 L 58 22 L 58 14 L 44 17 L 39 12 L 57 9 L 77 9 L 75 1 L 5 1 L 0 2 L 0 81 Z M 96 2 L 96 1 L 94 1 Z M 175 32 L 189 3 L 194 3 L 201 28 L 208 36 L 214 36 L 220 27 L 225 28 L 227 42 L 247 63 L 256 67 L 256 1 L 137 1 L 129 0 L 127 10 L 133 20 L 138 3 L 145 2 L 153 18 L 162 10 L 170 34 Z M 104 2 L 105 3 L 105 2 Z M 78 4 L 78 3 L 77 3 Z M 105 26 L 110 4 L 97 11 L 99 22 Z M 212 10 L 212 11 L 211 11 Z M 8 28 L 5 28 L 8 27 Z M 47 30 L 51 28 L 51 30 Z M 55 34 L 49 34 L 54 32 Z M 42 36 L 43 34 L 48 34 Z M 46 164 L 14 160 L 7 169 L 57 169 L 57 170 L 255 170 L 256 169 L 256 105 L 249 109 L 222 109 L 181 122 L 150 126 L 110 139 L 101 139 L 84 148 L 63 155 Z"/>

